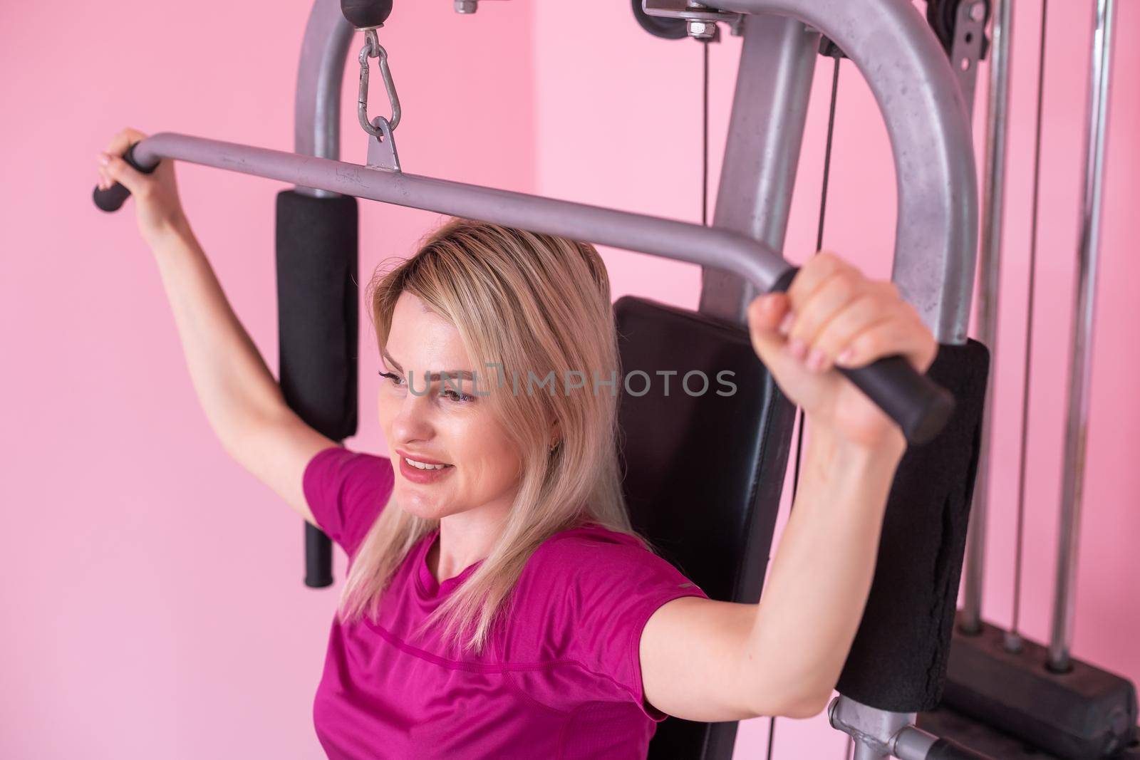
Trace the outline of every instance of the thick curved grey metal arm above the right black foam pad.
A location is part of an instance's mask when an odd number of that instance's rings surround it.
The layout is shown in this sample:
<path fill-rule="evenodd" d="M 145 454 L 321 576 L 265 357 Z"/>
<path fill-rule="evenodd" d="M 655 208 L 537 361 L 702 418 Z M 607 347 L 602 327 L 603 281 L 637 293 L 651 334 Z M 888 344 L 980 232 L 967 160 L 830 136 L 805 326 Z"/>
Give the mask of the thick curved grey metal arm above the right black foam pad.
<path fill-rule="evenodd" d="M 942 343 L 966 343 L 978 189 L 966 101 L 946 54 L 909 0 L 702 0 L 790 16 L 855 63 L 890 136 L 898 187 L 893 278 Z"/>

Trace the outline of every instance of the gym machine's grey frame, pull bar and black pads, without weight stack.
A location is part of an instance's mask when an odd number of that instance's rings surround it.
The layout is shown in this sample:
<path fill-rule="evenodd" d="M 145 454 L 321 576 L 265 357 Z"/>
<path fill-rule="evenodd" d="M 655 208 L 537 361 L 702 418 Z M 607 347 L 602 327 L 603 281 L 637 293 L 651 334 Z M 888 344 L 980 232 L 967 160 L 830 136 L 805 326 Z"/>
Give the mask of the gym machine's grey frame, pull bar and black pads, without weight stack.
<path fill-rule="evenodd" d="M 650 5 L 643 3 L 646 15 Z M 984 23 L 974 7 L 955 5 L 938 18 Z M 478 2 L 457 0 L 456 10 L 474 13 Z M 703 14 L 662 19 L 683 22 L 686 35 L 715 35 L 723 22 L 743 38 L 710 227 L 405 173 L 393 139 L 399 100 L 378 34 L 390 0 L 342 0 L 340 7 L 316 0 L 302 43 L 295 153 L 163 132 L 131 146 L 127 158 L 141 171 L 172 158 L 295 185 L 277 198 L 280 382 L 291 407 L 334 440 L 352 435 L 357 422 L 358 197 L 700 264 L 697 312 L 632 296 L 614 304 L 624 370 L 706 362 L 736 368 L 756 393 L 731 401 L 624 397 L 627 501 L 634 525 L 709 596 L 756 602 L 795 409 L 751 353 L 744 313 L 752 297 L 785 288 L 795 276 L 777 252 L 815 60 L 821 46 L 849 58 L 890 137 L 898 189 L 891 277 L 940 350 L 925 376 L 901 357 L 839 370 L 899 423 L 911 447 L 888 499 L 868 612 L 830 716 L 862 760 L 983 758 L 913 725 L 942 696 L 988 373 L 988 350 L 967 336 L 978 205 L 963 95 L 972 89 L 972 67 L 947 60 L 947 54 L 980 55 L 983 35 L 939 39 L 907 0 L 710 0 L 653 10 Z M 355 31 L 366 40 L 358 56 L 358 115 L 368 144 L 363 165 L 339 161 L 339 92 Z M 368 116 L 373 58 L 391 117 Z M 115 186 L 95 196 L 113 211 L 127 194 Z M 645 430 L 653 435 L 633 434 Z M 663 466 L 677 456 L 711 461 L 718 449 L 723 475 L 712 484 L 677 481 Z M 707 506 L 694 514 L 698 491 Z M 327 586 L 327 538 L 306 530 L 306 582 Z M 728 758 L 735 729 L 735 722 L 669 719 L 658 727 L 650 757 Z"/>

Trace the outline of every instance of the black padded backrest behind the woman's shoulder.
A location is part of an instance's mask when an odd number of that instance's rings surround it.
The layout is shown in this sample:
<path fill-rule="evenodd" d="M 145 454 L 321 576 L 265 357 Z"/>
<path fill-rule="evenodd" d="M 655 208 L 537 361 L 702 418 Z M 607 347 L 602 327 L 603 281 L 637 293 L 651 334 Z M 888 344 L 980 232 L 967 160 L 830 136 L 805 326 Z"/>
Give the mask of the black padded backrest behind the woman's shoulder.
<path fill-rule="evenodd" d="M 619 382 L 628 389 L 619 450 L 634 528 L 711 598 L 755 603 L 796 409 L 744 327 L 633 296 L 619 299 L 614 312 Z M 698 371 L 708 378 L 703 393 Z M 735 721 L 667 718 L 649 758 L 727 760 L 735 735 Z"/>

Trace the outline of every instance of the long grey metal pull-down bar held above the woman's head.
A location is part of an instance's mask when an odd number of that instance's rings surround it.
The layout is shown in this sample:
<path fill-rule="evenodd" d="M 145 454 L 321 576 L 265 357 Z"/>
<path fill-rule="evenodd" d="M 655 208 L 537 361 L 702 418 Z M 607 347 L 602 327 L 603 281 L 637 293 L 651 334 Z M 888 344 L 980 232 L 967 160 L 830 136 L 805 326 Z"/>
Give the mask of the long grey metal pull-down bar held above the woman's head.
<path fill-rule="evenodd" d="M 152 165 L 160 158 L 188 161 L 399 206 L 651 253 L 723 269 L 762 292 L 772 289 L 790 269 L 767 245 L 730 230 L 282 150 L 160 132 L 139 142 L 135 156 L 141 165 Z"/>

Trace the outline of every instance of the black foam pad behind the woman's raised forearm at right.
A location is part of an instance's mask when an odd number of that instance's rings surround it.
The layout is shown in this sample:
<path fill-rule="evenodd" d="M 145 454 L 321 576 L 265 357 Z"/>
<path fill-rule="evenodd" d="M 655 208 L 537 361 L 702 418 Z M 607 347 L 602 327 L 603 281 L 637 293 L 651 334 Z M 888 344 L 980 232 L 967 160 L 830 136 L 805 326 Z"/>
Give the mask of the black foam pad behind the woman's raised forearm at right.
<path fill-rule="evenodd" d="M 899 461 L 866 610 L 837 688 L 891 712 L 942 698 L 982 446 L 990 351 L 942 345 L 928 375 L 954 394 L 945 430 Z"/>

